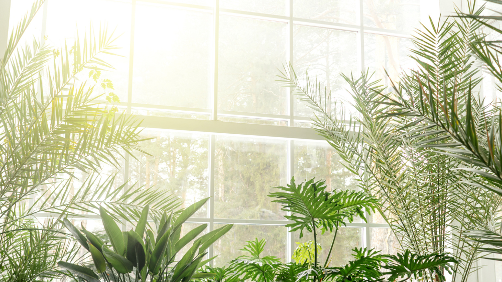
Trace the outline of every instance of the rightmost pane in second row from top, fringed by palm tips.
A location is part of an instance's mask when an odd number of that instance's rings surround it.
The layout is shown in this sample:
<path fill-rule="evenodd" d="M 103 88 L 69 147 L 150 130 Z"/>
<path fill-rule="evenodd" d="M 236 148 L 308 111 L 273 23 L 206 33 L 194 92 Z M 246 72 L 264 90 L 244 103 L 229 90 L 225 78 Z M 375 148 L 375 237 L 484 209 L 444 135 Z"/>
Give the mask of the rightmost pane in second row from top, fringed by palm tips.
<path fill-rule="evenodd" d="M 372 80 L 382 80 L 381 84 L 390 85 L 389 74 L 393 81 L 399 79 L 401 71 L 413 69 L 416 64 L 408 57 L 411 52 L 410 39 L 382 35 L 364 35 L 364 64 L 369 73 L 375 72 Z"/>

